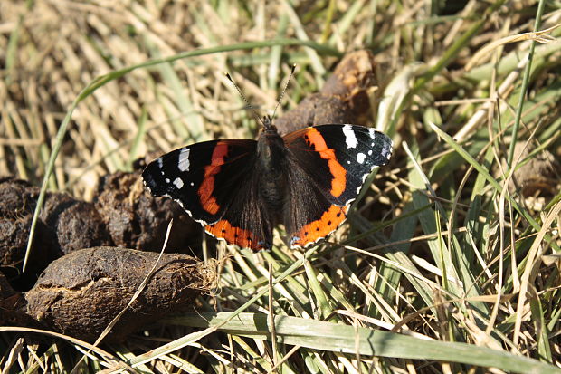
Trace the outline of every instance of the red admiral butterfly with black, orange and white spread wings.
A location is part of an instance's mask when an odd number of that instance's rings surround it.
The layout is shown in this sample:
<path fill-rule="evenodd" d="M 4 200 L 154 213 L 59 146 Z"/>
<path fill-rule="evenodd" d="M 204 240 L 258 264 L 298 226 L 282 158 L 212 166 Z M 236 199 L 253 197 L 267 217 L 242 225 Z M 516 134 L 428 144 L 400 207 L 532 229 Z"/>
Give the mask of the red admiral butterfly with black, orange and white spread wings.
<path fill-rule="evenodd" d="M 262 124 L 257 140 L 204 141 L 157 158 L 144 184 L 229 244 L 270 249 L 283 224 L 290 246 L 305 247 L 345 221 L 366 177 L 392 155 L 376 129 L 320 125 L 281 137 L 269 117 Z"/>

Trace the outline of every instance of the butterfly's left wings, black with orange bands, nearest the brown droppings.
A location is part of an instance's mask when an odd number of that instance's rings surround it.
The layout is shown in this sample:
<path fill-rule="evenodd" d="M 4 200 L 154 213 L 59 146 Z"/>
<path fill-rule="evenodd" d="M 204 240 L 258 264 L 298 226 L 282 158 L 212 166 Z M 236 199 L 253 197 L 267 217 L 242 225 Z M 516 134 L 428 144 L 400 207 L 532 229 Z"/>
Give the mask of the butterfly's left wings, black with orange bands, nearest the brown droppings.
<path fill-rule="evenodd" d="M 152 195 L 176 200 L 207 233 L 241 247 L 264 248 L 272 228 L 261 217 L 262 203 L 254 201 L 259 200 L 256 146 L 251 139 L 225 139 L 173 150 L 148 164 L 144 184 Z"/>

